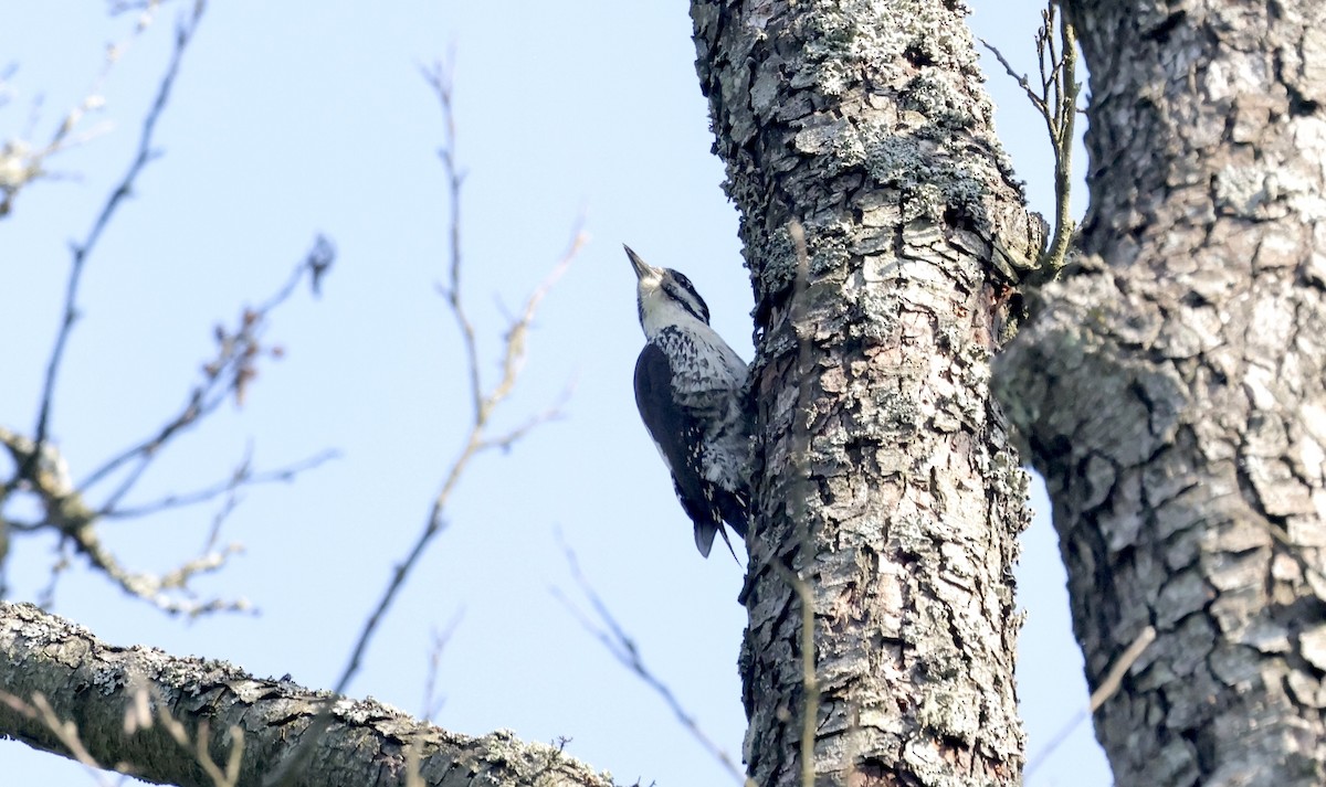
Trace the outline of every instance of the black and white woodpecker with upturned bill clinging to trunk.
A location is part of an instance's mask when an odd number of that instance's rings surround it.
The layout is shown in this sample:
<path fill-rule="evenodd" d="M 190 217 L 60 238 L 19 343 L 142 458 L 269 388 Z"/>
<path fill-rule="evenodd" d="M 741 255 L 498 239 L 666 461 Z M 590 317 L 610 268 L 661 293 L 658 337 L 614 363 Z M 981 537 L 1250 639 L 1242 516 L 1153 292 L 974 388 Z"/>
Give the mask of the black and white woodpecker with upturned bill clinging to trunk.
<path fill-rule="evenodd" d="M 695 546 L 708 558 L 715 534 L 732 549 L 724 522 L 745 538 L 749 521 L 747 364 L 709 327 L 709 307 L 691 280 L 623 248 L 635 268 L 646 339 L 635 362 L 635 405 L 695 522 Z"/>

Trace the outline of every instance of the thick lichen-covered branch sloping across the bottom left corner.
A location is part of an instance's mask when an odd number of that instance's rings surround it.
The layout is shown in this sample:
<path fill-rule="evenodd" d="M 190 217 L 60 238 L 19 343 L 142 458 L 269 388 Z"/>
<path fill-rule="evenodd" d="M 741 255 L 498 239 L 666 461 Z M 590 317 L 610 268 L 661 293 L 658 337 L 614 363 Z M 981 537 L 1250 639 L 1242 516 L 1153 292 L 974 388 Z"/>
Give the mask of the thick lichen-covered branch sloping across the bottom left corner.
<path fill-rule="evenodd" d="M 481 738 L 448 733 L 374 700 L 310 692 L 290 681 L 256 678 L 224 661 L 180 658 L 143 647 L 117 648 L 88 629 L 30 604 L 0 602 L 0 730 L 36 749 L 69 757 L 41 718 L 11 698 L 32 704 L 40 693 L 103 766 L 125 763 L 141 779 L 182 787 L 212 787 L 194 751 L 162 723 L 126 733 L 126 714 L 146 686 L 154 717 L 160 710 L 196 741 L 206 725 L 216 763 L 229 755 L 231 726 L 244 738 L 239 786 L 257 787 L 292 755 L 308 755 L 289 787 L 406 784 L 406 750 L 416 747 L 419 775 L 435 787 L 613 787 L 557 749 L 522 743 L 505 731 Z M 320 713 L 332 702 L 330 717 Z M 322 726 L 308 742 L 305 734 Z M 310 747 L 302 751 L 301 747 Z"/>

